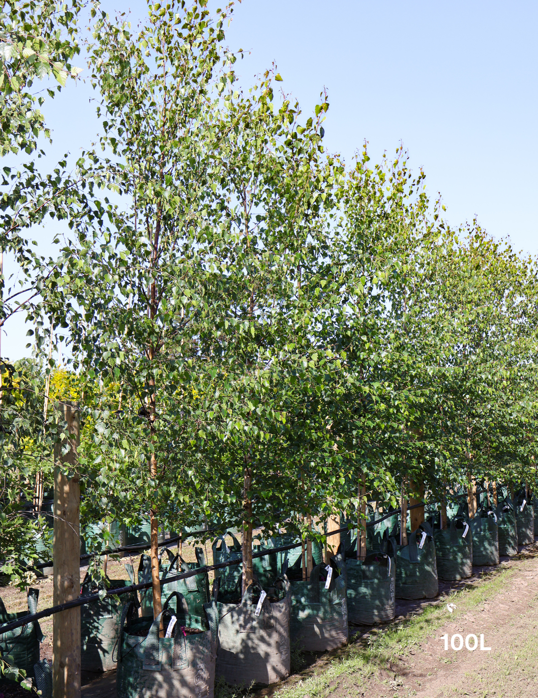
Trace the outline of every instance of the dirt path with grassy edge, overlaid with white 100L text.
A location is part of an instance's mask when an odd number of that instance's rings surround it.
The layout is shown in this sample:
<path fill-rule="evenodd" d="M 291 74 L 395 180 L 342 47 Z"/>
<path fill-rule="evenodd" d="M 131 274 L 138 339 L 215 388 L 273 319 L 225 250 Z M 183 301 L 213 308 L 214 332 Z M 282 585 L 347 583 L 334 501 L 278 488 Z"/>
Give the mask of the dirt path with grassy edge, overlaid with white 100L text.
<path fill-rule="evenodd" d="M 450 613 L 447 601 L 421 624 L 408 628 L 407 641 L 398 648 L 393 641 L 384 668 L 379 662 L 361 664 L 353 670 L 353 648 L 341 654 L 343 673 L 334 664 L 309 671 L 311 678 L 281 688 L 278 698 L 524 698 L 538 694 L 538 546 L 525 549 L 522 558 L 505 563 L 501 574 L 475 582 L 473 593 L 456 594 Z M 418 618 L 417 618 L 418 621 Z M 428 630 L 428 623 L 431 629 Z M 355 642 L 363 650 L 370 633 L 358 633 Z M 442 637 L 447 634 L 448 650 Z M 459 651 L 451 648 L 452 636 Z M 470 651 L 465 639 L 475 635 L 477 648 Z M 481 650 L 483 646 L 491 648 Z M 394 634 L 393 634 L 394 637 Z M 475 639 L 468 639 L 470 648 Z M 377 666 L 375 666 L 377 664 Z M 350 666 L 351 665 L 351 666 Z M 313 676 L 315 674 L 316 676 Z M 324 676 L 326 674 L 326 676 Z M 303 683 L 304 688 L 300 685 Z"/>

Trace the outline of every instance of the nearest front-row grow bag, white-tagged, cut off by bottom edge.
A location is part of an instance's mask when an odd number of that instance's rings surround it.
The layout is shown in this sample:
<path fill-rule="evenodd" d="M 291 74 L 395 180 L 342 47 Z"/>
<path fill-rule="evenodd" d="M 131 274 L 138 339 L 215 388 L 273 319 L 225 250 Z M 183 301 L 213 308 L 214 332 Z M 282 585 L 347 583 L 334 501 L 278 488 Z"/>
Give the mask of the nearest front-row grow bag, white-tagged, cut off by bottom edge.
<path fill-rule="evenodd" d="M 204 604 L 202 618 L 188 613 L 187 602 L 178 592 L 174 600 L 179 611 L 172 614 L 167 599 L 155 620 L 137 618 L 135 604 L 125 604 L 118 641 L 117 698 L 213 698 L 216 600 Z M 161 617 L 169 637 L 159 638 Z"/>

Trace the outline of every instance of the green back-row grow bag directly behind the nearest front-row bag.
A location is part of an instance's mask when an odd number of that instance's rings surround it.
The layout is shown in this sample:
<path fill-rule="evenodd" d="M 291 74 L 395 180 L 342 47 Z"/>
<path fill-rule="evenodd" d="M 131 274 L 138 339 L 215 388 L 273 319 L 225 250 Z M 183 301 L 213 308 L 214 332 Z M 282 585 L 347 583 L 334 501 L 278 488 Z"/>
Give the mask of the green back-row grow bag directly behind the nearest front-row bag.
<path fill-rule="evenodd" d="M 168 557 L 167 560 L 164 558 L 165 554 Z M 189 572 L 190 570 L 205 567 L 206 560 L 203 549 L 195 548 L 195 554 L 197 562 L 186 563 L 183 558 L 179 558 L 177 555 L 174 556 L 170 550 L 163 548 L 159 556 L 160 579 L 164 581 L 167 577 L 175 577 L 180 573 L 180 566 L 181 572 Z M 140 556 L 140 566 L 138 567 L 138 583 L 146 584 L 149 581 L 151 581 L 151 558 L 149 555 L 142 555 Z M 184 595 L 190 613 L 200 618 L 203 617 L 202 607 L 211 599 L 209 577 L 205 571 L 195 574 L 194 577 L 172 581 L 171 584 L 167 584 L 163 589 L 165 589 L 165 593 L 168 596 L 172 595 L 174 591 Z M 172 599 L 172 607 L 174 604 L 175 600 Z M 140 591 L 140 606 L 142 607 L 142 616 L 153 616 L 154 599 L 151 588 Z"/>

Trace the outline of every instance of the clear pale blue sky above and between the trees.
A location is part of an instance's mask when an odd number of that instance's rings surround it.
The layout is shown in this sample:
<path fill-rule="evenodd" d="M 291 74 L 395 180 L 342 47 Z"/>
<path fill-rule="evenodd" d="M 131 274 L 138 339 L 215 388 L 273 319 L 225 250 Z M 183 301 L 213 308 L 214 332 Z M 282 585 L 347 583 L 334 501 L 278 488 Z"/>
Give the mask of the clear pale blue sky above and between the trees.
<path fill-rule="evenodd" d="M 130 8 L 145 12 L 140 0 Z M 227 44 L 251 52 L 237 64 L 242 84 L 276 61 L 304 112 L 327 88 L 330 151 L 350 162 L 366 139 L 378 160 L 403 142 L 431 195 L 442 194 L 451 225 L 477 216 L 494 237 L 509 235 L 535 255 L 537 27 L 530 1 L 244 0 Z M 80 84 L 49 105 L 52 155 L 89 146 L 98 128 L 90 96 Z M 37 233 L 44 251 L 53 232 Z M 2 353 L 27 355 L 22 319 L 5 329 Z"/>

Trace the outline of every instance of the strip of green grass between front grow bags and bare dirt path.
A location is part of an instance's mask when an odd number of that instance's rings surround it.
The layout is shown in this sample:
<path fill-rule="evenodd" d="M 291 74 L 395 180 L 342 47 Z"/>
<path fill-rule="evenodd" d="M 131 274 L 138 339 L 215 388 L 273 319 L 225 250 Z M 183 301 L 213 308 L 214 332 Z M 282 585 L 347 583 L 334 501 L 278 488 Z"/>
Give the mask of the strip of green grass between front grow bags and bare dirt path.
<path fill-rule="evenodd" d="M 289 687 L 284 686 L 276 692 L 275 698 L 328 696 L 338 688 L 342 678 L 352 674 L 360 674 L 354 682 L 360 685 L 378 669 L 389 668 L 398 657 L 406 655 L 426 637 L 435 637 L 435 631 L 447 621 L 455 621 L 460 614 L 479 606 L 501 591 L 520 568 L 521 565 L 514 565 L 484 574 L 476 586 L 454 591 L 449 597 L 445 597 L 441 604 L 427 606 L 420 614 L 408 620 L 393 623 L 384 630 L 378 629 L 375 637 L 368 638 L 366 646 L 353 644 L 351 641 L 340 651 L 338 657 L 330 660 L 314 676 L 303 678 Z M 447 610 L 448 602 L 456 604 L 452 614 Z"/>

